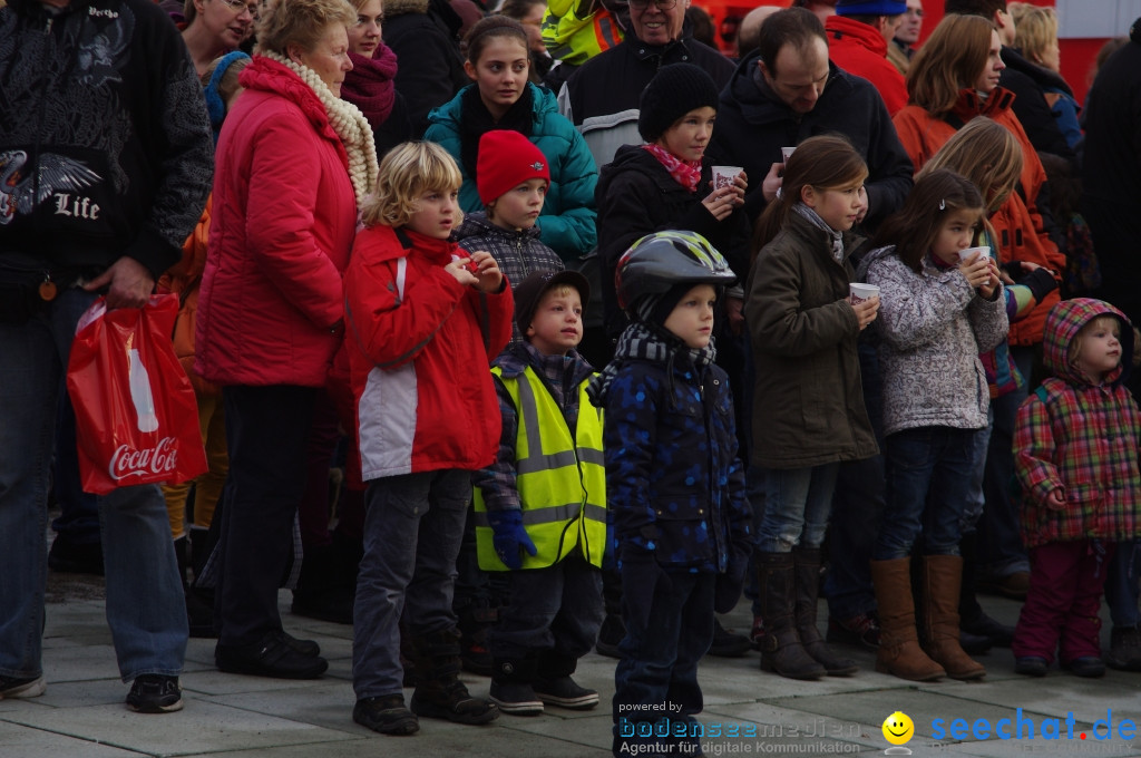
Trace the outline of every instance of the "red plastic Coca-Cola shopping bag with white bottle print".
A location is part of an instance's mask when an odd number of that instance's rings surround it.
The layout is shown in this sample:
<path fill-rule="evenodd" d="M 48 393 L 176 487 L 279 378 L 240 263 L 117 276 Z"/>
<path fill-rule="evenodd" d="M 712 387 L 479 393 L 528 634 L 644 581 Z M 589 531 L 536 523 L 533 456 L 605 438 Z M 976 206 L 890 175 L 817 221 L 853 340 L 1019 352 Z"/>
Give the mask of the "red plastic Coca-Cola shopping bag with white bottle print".
<path fill-rule="evenodd" d="M 185 482 L 207 470 L 197 403 L 170 333 L 178 296 L 80 317 L 67 362 L 83 491 Z"/>

